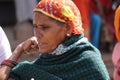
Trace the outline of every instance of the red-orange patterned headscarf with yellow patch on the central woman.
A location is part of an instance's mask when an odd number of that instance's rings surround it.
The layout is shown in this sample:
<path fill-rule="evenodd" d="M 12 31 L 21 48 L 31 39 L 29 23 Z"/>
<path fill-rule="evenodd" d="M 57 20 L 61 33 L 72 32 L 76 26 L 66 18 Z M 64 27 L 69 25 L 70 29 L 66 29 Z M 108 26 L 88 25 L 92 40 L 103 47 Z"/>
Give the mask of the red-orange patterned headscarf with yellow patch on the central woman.
<path fill-rule="evenodd" d="M 84 31 L 80 12 L 71 0 L 41 0 L 33 11 L 67 23 L 73 34 L 81 34 Z"/>

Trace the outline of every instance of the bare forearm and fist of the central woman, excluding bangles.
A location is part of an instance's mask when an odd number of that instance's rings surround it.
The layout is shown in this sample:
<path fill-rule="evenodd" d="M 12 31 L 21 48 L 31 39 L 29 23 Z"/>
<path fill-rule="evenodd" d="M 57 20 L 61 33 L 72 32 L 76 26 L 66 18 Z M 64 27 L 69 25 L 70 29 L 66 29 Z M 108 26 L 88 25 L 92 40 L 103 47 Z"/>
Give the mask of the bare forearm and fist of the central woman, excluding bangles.
<path fill-rule="evenodd" d="M 13 54 L 9 57 L 8 60 L 17 62 L 23 53 L 29 52 L 32 48 L 35 48 L 35 47 L 37 47 L 36 38 L 32 37 L 32 38 L 22 42 L 21 44 L 19 44 L 16 47 L 16 49 L 13 51 Z M 0 80 L 7 80 L 9 77 L 9 73 L 10 73 L 11 69 L 12 68 L 7 66 L 7 65 L 1 65 L 1 67 L 0 67 Z"/>

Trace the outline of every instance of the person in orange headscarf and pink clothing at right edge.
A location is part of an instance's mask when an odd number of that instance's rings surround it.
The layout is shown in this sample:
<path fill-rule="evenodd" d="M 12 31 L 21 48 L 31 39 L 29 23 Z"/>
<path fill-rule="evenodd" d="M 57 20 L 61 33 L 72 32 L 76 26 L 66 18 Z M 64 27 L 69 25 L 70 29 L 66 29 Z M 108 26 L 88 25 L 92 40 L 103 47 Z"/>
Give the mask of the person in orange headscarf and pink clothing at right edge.
<path fill-rule="evenodd" d="M 117 8 L 114 16 L 115 35 L 117 43 L 113 49 L 112 61 L 114 64 L 114 80 L 120 80 L 120 0 L 117 1 Z"/>

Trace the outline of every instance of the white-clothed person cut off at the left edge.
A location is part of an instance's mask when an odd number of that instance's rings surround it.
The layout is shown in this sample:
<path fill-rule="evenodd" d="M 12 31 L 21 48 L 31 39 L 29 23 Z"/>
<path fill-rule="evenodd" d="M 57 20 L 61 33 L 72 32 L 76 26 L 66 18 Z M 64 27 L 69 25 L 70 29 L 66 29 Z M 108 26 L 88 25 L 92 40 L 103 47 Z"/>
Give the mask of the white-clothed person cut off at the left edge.
<path fill-rule="evenodd" d="M 5 32 L 0 26 L 0 64 L 3 60 L 8 59 L 12 55 L 11 47 Z"/>

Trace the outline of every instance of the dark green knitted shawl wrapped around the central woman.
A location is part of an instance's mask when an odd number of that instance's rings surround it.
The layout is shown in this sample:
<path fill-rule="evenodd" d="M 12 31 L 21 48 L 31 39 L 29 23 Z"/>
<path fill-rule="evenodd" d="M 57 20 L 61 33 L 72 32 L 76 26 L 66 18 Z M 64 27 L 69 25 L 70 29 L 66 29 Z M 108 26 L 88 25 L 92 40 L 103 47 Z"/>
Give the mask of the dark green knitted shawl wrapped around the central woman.
<path fill-rule="evenodd" d="M 68 46 L 83 35 L 76 35 L 63 44 Z M 83 42 L 62 55 L 42 54 L 33 62 L 21 62 L 10 77 L 15 80 L 110 80 L 99 50 Z"/>

